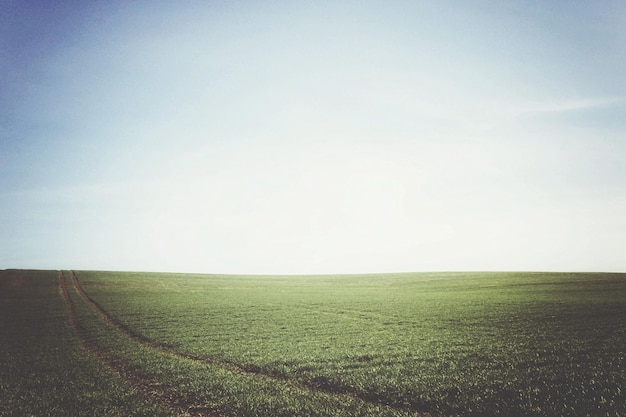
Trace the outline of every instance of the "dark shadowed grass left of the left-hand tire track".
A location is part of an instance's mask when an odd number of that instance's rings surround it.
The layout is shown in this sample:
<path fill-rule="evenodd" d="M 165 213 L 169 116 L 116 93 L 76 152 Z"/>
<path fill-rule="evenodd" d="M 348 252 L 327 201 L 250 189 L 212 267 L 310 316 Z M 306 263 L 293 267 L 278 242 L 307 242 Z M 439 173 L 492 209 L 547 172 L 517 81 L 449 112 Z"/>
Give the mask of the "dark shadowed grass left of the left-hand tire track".
<path fill-rule="evenodd" d="M 83 347 L 57 271 L 0 271 L 0 415 L 170 416 Z"/>

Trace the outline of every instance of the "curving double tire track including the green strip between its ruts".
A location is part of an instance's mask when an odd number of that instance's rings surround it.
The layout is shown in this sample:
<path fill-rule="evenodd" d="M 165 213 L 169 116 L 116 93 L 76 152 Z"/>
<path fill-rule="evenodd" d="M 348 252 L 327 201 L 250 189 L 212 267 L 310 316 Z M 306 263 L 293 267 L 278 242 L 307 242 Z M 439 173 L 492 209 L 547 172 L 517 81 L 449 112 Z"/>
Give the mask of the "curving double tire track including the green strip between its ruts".
<path fill-rule="evenodd" d="M 154 343 L 108 314 L 85 292 L 78 276 L 68 274 L 73 291 L 65 292 L 76 294 L 82 305 L 82 311 L 74 313 L 73 320 L 84 343 L 129 383 L 182 415 L 245 416 L 259 415 L 260 410 L 266 410 L 260 415 L 284 416 L 407 415 L 348 393 L 324 391 L 260 369 L 194 357 Z M 74 311 L 71 295 L 68 304 L 68 309 Z M 81 320 L 91 328 L 85 329 Z"/>

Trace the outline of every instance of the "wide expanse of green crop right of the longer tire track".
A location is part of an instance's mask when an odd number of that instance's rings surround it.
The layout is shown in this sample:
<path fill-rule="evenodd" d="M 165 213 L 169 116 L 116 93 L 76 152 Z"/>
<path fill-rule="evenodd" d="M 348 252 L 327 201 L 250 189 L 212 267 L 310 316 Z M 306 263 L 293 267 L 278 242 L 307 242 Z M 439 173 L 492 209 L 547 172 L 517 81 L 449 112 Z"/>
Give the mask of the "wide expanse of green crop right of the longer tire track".
<path fill-rule="evenodd" d="M 626 277 L 80 272 L 170 351 L 409 414 L 626 412 Z"/>

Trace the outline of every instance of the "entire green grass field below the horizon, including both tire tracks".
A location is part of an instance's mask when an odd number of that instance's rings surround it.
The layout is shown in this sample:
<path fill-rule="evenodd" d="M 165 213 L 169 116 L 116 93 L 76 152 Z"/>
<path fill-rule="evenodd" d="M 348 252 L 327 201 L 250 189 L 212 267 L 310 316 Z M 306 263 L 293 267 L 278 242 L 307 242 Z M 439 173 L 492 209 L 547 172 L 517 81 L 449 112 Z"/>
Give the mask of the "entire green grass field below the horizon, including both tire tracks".
<path fill-rule="evenodd" d="M 0 271 L 0 415 L 623 416 L 626 274 Z"/>

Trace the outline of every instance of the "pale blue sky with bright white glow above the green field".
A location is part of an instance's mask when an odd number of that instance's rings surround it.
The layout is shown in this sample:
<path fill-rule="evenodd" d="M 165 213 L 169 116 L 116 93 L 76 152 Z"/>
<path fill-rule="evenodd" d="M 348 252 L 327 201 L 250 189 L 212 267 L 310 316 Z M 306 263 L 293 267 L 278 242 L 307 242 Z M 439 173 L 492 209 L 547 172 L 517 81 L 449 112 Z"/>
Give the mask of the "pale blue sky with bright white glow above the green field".
<path fill-rule="evenodd" d="M 0 268 L 626 272 L 621 1 L 0 5 Z"/>

